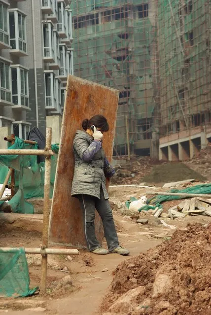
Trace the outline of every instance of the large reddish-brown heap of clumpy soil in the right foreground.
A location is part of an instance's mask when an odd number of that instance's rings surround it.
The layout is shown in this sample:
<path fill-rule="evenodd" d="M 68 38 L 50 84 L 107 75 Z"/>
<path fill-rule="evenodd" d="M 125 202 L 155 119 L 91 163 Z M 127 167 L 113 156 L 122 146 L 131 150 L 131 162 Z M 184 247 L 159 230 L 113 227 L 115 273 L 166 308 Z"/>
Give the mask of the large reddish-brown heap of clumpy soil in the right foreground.
<path fill-rule="evenodd" d="M 211 226 L 188 225 L 114 271 L 103 312 L 211 314 Z"/>

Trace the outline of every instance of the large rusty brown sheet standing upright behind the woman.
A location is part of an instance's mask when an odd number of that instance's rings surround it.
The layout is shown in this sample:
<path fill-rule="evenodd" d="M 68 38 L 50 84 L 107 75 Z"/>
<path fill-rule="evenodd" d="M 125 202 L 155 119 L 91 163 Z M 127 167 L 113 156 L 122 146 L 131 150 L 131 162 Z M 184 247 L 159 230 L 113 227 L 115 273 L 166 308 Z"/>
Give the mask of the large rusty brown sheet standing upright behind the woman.
<path fill-rule="evenodd" d="M 62 121 L 60 148 L 50 214 L 49 242 L 52 245 L 85 247 L 82 211 L 70 196 L 74 174 L 72 142 L 81 122 L 93 115 L 104 115 L 110 130 L 104 134 L 103 147 L 108 161 L 112 158 L 119 91 L 70 75 Z M 95 220 L 100 243 L 103 228 L 99 215 Z"/>

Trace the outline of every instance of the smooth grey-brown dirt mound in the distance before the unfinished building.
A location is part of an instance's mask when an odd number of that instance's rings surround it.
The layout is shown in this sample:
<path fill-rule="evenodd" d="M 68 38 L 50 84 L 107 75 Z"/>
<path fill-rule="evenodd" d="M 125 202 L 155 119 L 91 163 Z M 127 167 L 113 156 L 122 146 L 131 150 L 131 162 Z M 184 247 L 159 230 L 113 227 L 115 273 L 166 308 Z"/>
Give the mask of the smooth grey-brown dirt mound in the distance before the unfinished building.
<path fill-rule="evenodd" d="M 153 167 L 151 173 L 142 178 L 146 183 L 172 182 L 185 179 L 195 178 L 198 180 L 206 180 L 201 174 L 191 170 L 183 163 L 165 163 Z"/>

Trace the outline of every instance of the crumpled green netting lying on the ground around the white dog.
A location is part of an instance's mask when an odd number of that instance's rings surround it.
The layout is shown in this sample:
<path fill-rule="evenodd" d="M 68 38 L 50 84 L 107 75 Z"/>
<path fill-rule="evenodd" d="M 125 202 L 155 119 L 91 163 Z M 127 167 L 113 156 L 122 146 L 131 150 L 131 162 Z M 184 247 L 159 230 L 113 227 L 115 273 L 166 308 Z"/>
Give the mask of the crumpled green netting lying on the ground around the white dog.
<path fill-rule="evenodd" d="M 195 185 L 193 187 L 184 188 L 181 190 L 178 189 L 172 189 L 170 192 L 172 193 L 186 193 L 186 194 L 211 194 L 211 184 L 201 184 L 201 185 Z M 179 200 L 179 199 L 185 199 L 185 198 L 191 198 L 191 197 L 183 197 L 183 196 L 163 196 L 158 195 L 155 197 L 152 197 L 151 199 L 147 200 L 147 205 L 143 206 L 139 209 L 141 210 L 154 210 L 155 208 L 163 208 L 161 205 L 164 201 L 171 201 L 171 200 Z M 130 203 L 134 200 L 137 200 L 135 197 L 131 197 L 130 201 L 126 201 L 125 205 L 129 209 Z M 153 206 L 152 206 L 153 205 Z"/>

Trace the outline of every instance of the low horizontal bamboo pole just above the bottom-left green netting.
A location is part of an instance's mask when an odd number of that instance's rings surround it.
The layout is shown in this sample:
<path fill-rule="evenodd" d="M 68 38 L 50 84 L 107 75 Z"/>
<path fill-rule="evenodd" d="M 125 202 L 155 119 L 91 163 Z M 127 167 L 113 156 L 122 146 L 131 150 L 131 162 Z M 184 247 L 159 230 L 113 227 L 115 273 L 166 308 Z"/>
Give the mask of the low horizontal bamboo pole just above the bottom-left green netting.
<path fill-rule="evenodd" d="M 14 253 L 19 249 L 19 247 L 0 247 L 0 251 L 5 253 Z M 26 254 L 41 254 L 41 255 L 78 255 L 79 251 L 77 249 L 68 248 L 24 248 Z"/>

